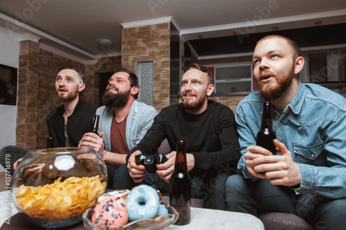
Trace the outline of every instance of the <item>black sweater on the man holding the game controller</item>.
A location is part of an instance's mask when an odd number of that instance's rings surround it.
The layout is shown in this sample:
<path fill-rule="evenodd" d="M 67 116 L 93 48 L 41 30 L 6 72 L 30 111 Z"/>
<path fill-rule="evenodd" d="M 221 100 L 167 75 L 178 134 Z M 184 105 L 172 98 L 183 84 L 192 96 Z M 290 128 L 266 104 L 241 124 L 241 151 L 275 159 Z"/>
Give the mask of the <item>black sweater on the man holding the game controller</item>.
<path fill-rule="evenodd" d="M 217 171 L 221 165 L 233 172 L 237 167 L 240 151 L 235 116 L 219 102 L 208 101 L 206 111 L 199 115 L 186 113 L 183 104 L 163 108 L 129 155 L 136 150 L 144 155 L 153 154 L 165 138 L 172 151 L 176 150 L 177 140 L 185 140 L 186 153 L 194 155 L 192 175 Z"/>

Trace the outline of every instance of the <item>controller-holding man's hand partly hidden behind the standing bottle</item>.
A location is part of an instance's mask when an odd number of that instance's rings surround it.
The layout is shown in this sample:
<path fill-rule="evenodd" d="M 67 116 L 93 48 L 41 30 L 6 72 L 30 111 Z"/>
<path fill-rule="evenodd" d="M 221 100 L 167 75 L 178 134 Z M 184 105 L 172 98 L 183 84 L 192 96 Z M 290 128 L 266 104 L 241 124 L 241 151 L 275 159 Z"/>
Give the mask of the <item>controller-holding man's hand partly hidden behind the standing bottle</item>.
<path fill-rule="evenodd" d="M 174 172 L 176 151 L 172 151 L 169 154 L 166 154 L 167 161 L 163 164 L 156 164 L 157 166 L 157 175 L 165 180 L 165 182 L 170 182 L 170 178 L 172 173 Z M 194 168 L 194 155 L 191 153 L 186 154 L 186 161 L 188 162 L 188 172 L 190 172 Z"/>

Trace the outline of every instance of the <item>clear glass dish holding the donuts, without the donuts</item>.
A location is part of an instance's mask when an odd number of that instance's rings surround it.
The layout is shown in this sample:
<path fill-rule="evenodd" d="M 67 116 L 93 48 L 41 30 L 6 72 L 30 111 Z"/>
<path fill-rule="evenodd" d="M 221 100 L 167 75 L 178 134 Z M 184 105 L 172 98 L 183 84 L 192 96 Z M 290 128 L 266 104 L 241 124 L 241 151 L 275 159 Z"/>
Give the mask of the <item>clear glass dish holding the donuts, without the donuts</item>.
<path fill-rule="evenodd" d="M 160 203 L 165 205 L 165 207 L 168 210 L 168 214 L 159 215 L 152 219 L 143 219 L 128 222 L 124 226 L 119 225 L 102 227 L 101 224 L 95 224 L 91 222 L 91 215 L 93 214 L 93 209 L 87 209 L 83 213 L 84 227 L 86 227 L 86 229 L 88 230 L 163 229 L 165 227 L 170 226 L 170 224 L 174 224 L 176 220 L 178 220 L 179 213 L 174 209 L 174 207 L 167 206 L 167 204 L 163 200 L 161 200 Z"/>

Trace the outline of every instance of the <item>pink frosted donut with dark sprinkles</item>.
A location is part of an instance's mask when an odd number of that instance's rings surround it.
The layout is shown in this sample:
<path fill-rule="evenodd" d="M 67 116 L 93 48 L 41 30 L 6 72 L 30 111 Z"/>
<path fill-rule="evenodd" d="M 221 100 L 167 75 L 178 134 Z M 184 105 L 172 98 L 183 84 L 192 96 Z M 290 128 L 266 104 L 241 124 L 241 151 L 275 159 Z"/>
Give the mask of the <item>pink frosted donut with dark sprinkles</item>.
<path fill-rule="evenodd" d="M 93 209 L 91 222 L 100 224 L 102 228 L 125 225 L 129 221 L 124 198 L 109 195 Z"/>

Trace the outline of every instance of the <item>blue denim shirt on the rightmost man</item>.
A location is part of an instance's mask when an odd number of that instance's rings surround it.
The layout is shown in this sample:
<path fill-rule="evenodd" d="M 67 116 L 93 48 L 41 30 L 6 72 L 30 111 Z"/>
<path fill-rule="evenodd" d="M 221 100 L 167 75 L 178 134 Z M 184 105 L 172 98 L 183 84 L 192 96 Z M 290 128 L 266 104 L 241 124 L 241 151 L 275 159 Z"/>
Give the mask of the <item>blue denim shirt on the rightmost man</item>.
<path fill-rule="evenodd" d="M 242 157 L 239 171 L 248 173 L 246 147 L 256 144 L 262 121 L 263 97 L 254 92 L 237 106 L 235 120 Z M 325 198 L 346 195 L 346 99 L 316 84 L 299 82 L 298 92 L 282 115 L 272 109 L 273 130 L 298 164 L 301 173 L 298 193 Z M 280 153 L 279 153 L 280 154 Z"/>

